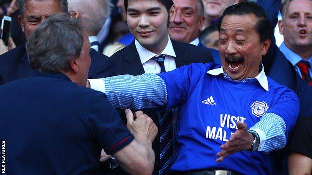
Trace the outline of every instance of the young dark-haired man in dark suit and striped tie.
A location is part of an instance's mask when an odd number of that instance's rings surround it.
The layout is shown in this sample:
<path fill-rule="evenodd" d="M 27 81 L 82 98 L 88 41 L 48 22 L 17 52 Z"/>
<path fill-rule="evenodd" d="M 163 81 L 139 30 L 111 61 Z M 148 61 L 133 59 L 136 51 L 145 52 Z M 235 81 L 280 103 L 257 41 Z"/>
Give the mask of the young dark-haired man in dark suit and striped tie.
<path fill-rule="evenodd" d="M 124 5 L 127 9 L 127 24 L 135 40 L 111 56 L 117 63 L 117 75 L 160 73 L 194 62 L 213 61 L 208 50 L 170 39 L 168 18 L 175 13 L 175 8 L 171 9 L 172 0 L 125 0 Z M 166 126 L 163 126 L 163 116 L 167 116 L 165 111 L 148 109 L 145 113 L 152 117 L 160 131 L 153 142 L 156 156 L 153 175 L 168 175 L 172 159 L 166 158 L 172 155 L 172 142 L 166 141 L 170 141 L 172 135 L 167 137 L 163 133 L 173 132 L 172 124 L 170 125 L 172 113 L 168 111 L 169 116 L 166 119 L 169 121 Z"/>

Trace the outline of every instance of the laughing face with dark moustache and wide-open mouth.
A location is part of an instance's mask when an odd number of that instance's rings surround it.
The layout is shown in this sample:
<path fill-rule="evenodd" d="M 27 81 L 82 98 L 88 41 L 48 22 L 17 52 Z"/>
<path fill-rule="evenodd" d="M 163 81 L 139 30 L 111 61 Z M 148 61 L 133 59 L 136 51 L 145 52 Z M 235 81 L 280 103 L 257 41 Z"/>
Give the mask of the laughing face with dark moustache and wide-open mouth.
<path fill-rule="evenodd" d="M 266 54 L 270 40 L 260 42 L 255 30 L 255 15 L 227 15 L 223 18 L 219 34 L 219 50 L 223 70 L 233 80 L 254 78 L 259 74 L 262 56 Z"/>

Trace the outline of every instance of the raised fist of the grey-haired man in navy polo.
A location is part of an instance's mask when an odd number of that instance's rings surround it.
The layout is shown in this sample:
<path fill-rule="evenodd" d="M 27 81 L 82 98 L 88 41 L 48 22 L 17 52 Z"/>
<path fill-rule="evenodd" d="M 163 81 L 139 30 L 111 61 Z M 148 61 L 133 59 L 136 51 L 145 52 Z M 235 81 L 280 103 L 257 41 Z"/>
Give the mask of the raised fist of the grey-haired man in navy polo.
<path fill-rule="evenodd" d="M 151 145 L 158 132 L 158 128 L 152 119 L 142 111 L 137 111 L 134 114 L 135 120 L 131 110 L 126 109 L 125 114 L 128 120 L 127 128 L 134 135 L 135 139 L 148 139 Z"/>

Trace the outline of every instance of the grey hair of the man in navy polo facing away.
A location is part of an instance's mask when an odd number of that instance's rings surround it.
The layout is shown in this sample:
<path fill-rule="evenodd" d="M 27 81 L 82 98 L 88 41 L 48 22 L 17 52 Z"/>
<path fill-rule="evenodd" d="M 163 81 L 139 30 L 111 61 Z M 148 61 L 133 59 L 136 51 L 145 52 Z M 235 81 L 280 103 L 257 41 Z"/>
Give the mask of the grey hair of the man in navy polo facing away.
<path fill-rule="evenodd" d="M 83 36 L 77 19 L 64 13 L 50 16 L 27 40 L 26 48 L 32 69 L 41 73 L 69 71 L 70 60 L 81 53 Z"/>

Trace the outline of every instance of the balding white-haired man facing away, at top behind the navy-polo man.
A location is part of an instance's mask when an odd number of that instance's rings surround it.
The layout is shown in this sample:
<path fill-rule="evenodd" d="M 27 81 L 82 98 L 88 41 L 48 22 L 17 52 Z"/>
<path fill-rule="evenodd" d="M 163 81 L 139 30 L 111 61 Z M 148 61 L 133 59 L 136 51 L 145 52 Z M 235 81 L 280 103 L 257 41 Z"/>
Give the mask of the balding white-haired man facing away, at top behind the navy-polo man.
<path fill-rule="evenodd" d="M 110 16 L 112 5 L 110 0 L 68 0 L 68 10 L 73 17 L 81 20 L 91 48 L 96 51 L 99 49 L 97 34 Z"/>

